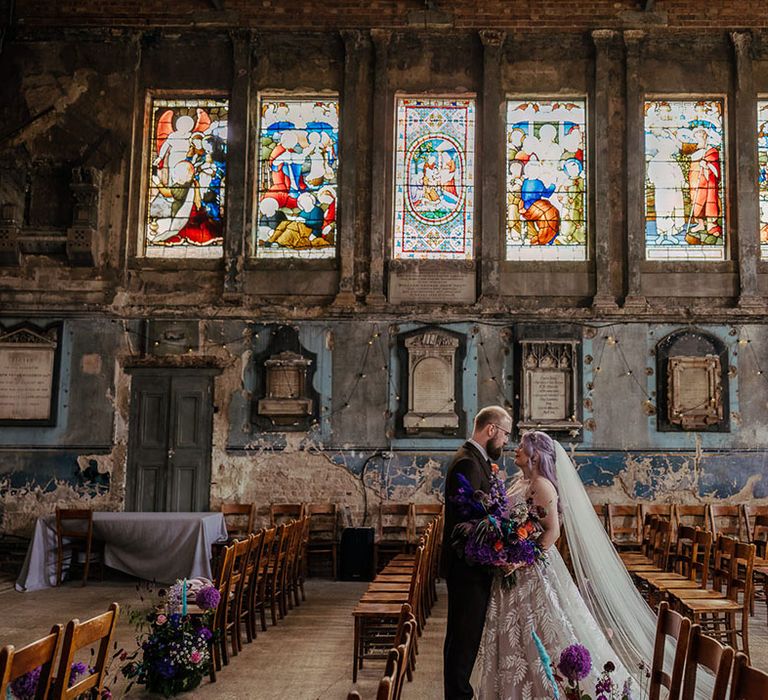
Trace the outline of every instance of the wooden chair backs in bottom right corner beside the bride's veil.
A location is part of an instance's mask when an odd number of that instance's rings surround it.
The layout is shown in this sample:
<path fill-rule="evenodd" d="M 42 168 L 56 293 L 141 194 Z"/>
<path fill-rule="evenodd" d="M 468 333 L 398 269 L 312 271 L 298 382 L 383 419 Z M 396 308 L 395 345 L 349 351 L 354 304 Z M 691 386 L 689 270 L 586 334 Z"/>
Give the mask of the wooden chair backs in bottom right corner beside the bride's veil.
<path fill-rule="evenodd" d="M 665 669 L 668 649 L 674 654 L 671 668 Z M 702 667 L 709 673 L 700 674 Z M 662 602 L 656 624 L 649 700 L 659 700 L 662 688 L 666 689 L 668 700 L 755 700 L 768 697 L 768 674 L 752 668 L 745 654 L 737 653 L 734 657 L 731 647 L 705 635 L 700 625 L 692 625 L 688 618 Z"/>

